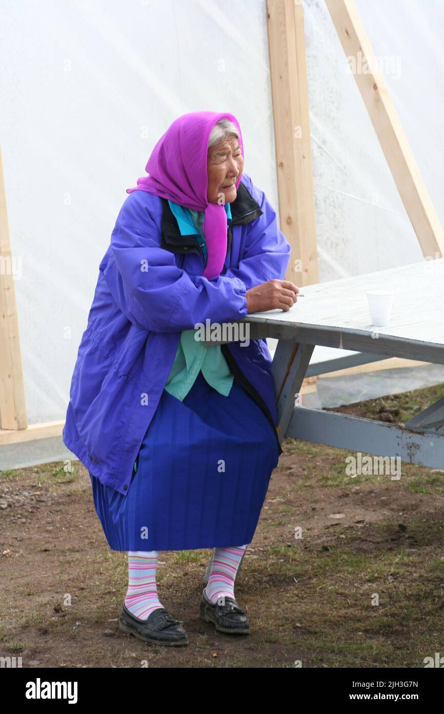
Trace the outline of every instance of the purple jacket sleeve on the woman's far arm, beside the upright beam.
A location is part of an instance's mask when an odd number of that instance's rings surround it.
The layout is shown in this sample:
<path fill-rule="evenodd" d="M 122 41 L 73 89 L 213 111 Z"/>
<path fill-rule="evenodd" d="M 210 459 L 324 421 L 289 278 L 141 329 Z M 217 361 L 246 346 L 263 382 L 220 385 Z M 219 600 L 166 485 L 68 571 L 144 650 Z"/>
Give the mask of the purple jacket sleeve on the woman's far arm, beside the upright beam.
<path fill-rule="evenodd" d="M 291 253 L 291 246 L 284 233 L 279 230 L 276 211 L 267 196 L 257 188 L 254 192 L 259 193 L 259 196 L 255 197 L 262 216 L 256 218 L 251 226 L 247 226 L 247 240 L 239 266 L 229 268 L 225 273 L 229 278 L 242 280 L 247 290 L 275 278 L 284 280 Z"/>

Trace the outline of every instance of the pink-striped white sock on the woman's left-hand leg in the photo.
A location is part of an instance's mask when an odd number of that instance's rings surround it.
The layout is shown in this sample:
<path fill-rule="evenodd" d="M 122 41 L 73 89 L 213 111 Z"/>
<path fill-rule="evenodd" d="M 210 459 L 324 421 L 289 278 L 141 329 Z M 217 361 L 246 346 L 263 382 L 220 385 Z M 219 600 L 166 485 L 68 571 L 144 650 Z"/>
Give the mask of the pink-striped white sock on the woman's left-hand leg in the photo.
<path fill-rule="evenodd" d="M 158 567 L 157 550 L 128 550 L 128 592 L 125 606 L 136 618 L 146 620 L 162 608 L 155 581 Z"/>

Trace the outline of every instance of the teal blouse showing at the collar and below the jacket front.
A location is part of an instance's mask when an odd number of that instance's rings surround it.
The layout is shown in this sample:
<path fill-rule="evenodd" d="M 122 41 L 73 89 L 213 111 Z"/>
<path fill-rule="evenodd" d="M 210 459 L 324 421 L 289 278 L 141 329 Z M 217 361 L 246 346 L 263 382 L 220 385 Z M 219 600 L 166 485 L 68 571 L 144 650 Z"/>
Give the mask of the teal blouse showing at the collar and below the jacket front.
<path fill-rule="evenodd" d="M 168 201 L 172 213 L 177 219 L 177 225 L 182 236 L 197 234 L 198 243 L 204 256 L 204 265 L 207 262 L 207 244 L 202 233 L 204 214 L 183 208 L 177 203 Z M 227 213 L 227 227 L 231 221 L 229 203 L 225 203 Z M 192 388 L 197 374 L 202 371 L 207 382 L 224 396 L 229 395 L 234 376 L 229 370 L 220 345 L 205 347 L 202 341 L 195 340 L 195 330 L 183 330 L 177 346 L 175 360 L 165 383 L 167 392 L 183 401 Z"/>

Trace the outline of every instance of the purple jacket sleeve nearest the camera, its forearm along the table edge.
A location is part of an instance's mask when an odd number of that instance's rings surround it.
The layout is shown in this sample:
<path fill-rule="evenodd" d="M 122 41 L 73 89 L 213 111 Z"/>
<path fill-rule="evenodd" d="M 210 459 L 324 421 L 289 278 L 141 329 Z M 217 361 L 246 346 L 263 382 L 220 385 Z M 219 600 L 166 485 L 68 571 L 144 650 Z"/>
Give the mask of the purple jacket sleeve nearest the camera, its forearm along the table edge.
<path fill-rule="evenodd" d="M 198 322 L 241 320 L 247 315 L 242 279 L 190 276 L 159 246 L 154 221 L 141 228 L 118 221 L 111 234 L 103 271 L 120 310 L 136 325 L 153 332 L 192 329 Z M 146 223 L 146 221 L 145 221 Z"/>

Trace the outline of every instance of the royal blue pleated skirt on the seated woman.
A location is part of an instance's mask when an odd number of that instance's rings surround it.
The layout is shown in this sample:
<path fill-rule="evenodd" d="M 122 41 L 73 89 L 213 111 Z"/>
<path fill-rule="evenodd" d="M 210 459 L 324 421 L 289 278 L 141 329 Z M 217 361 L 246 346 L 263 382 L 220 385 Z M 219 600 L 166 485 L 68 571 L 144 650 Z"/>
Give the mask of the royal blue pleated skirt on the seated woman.
<path fill-rule="evenodd" d="M 251 543 L 272 470 L 274 429 L 236 379 L 228 396 L 200 372 L 181 402 L 162 392 L 122 494 L 90 473 L 113 550 L 191 550 Z"/>

